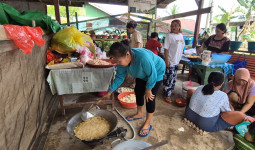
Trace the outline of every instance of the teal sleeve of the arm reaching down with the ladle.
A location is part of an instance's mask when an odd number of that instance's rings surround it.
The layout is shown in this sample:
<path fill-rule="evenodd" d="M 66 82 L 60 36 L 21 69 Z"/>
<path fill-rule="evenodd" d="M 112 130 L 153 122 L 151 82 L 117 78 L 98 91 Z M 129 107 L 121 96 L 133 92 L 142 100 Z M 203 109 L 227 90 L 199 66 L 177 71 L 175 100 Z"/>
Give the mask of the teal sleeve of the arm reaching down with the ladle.
<path fill-rule="evenodd" d="M 115 75 L 115 79 L 113 80 L 113 83 L 109 88 L 110 93 L 115 91 L 124 82 L 126 75 L 127 75 L 127 67 L 117 65 L 117 72 Z"/>

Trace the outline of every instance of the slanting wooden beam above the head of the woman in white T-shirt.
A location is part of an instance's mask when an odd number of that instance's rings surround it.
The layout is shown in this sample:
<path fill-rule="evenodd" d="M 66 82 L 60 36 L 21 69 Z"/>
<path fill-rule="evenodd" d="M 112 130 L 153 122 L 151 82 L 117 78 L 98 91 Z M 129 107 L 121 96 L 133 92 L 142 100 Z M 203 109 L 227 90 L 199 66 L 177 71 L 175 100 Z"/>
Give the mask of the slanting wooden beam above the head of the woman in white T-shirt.
<path fill-rule="evenodd" d="M 193 16 L 193 15 L 197 15 L 197 14 L 210 13 L 211 8 L 212 7 L 207 7 L 207 8 L 203 8 L 203 9 L 200 9 L 200 10 L 193 10 L 193 11 L 189 11 L 189 12 L 184 12 L 184 13 L 180 13 L 180 14 L 176 14 L 176 15 L 171 15 L 171 16 L 159 18 L 157 20 L 158 21 L 164 21 L 164 20 L 170 20 L 170 19 L 175 19 L 175 18 L 182 18 L 182 17 L 187 17 L 187 16 Z"/>

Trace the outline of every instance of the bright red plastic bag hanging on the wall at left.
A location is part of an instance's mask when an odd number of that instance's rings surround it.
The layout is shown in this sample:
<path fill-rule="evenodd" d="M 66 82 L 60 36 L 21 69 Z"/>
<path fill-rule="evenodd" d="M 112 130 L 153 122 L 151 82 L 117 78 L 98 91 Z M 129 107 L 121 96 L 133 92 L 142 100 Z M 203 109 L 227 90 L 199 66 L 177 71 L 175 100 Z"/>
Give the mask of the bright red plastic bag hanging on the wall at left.
<path fill-rule="evenodd" d="M 3 25 L 8 37 L 25 53 L 29 54 L 34 47 L 34 41 L 38 46 L 43 46 L 45 41 L 42 39 L 43 31 L 40 27 L 32 28 L 29 26 Z"/>

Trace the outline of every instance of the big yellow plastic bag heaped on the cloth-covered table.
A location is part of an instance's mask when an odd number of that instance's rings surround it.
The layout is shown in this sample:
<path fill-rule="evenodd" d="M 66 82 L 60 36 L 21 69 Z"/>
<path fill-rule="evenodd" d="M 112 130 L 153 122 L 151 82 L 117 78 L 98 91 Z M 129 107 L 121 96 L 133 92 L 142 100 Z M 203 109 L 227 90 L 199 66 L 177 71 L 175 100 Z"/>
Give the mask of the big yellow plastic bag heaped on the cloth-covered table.
<path fill-rule="evenodd" d="M 60 53 L 75 52 L 78 46 L 86 45 L 90 50 L 94 49 L 92 39 L 77 30 L 75 27 L 65 28 L 53 36 L 51 50 Z"/>

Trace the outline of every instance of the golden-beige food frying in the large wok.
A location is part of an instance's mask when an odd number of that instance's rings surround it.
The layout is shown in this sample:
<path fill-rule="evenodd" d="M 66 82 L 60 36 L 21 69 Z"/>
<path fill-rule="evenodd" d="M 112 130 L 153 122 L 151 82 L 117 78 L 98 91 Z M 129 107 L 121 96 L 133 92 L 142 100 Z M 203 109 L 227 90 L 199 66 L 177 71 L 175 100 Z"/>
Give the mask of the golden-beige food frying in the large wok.
<path fill-rule="evenodd" d="M 97 116 L 79 123 L 74 134 L 81 140 L 93 140 L 106 136 L 110 132 L 110 124 L 103 117 Z"/>

